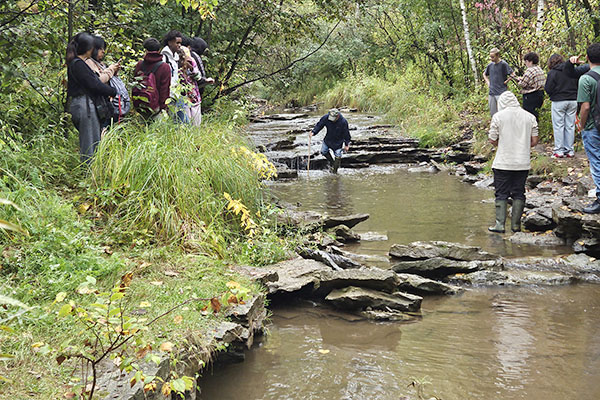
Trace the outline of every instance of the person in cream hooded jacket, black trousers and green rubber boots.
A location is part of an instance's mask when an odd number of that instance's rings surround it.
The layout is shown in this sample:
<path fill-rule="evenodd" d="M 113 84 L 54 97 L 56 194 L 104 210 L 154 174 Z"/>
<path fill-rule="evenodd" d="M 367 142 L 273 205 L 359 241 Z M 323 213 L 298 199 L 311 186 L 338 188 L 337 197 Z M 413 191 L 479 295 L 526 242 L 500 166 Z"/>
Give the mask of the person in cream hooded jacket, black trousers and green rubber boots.
<path fill-rule="evenodd" d="M 529 174 L 531 148 L 538 143 L 538 124 L 533 114 L 521 108 L 512 92 L 500 95 L 498 112 L 492 117 L 488 138 L 492 145 L 498 147 L 492 163 L 496 225 L 488 230 L 504 233 L 508 198 L 511 197 L 511 229 L 519 232 L 525 208 L 525 181 Z"/>

